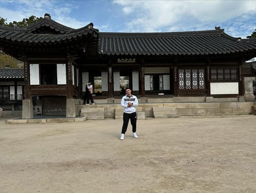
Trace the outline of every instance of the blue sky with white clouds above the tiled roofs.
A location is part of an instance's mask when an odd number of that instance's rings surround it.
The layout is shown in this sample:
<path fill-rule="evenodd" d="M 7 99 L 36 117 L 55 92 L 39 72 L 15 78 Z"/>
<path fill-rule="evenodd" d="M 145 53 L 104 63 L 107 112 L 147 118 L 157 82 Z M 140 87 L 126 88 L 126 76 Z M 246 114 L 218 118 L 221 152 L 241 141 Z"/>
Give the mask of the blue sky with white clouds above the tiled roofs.
<path fill-rule="evenodd" d="M 220 26 L 233 37 L 246 38 L 256 29 L 256 1 L 0 0 L 0 17 L 7 23 L 45 13 L 75 29 L 92 22 L 100 32 L 181 32 Z"/>

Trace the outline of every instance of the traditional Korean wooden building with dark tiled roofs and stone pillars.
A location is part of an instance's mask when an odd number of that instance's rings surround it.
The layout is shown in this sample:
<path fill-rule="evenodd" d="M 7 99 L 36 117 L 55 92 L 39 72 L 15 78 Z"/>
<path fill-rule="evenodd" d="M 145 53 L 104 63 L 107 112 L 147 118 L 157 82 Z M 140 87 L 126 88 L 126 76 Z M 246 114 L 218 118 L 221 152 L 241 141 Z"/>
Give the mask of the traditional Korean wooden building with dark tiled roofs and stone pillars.
<path fill-rule="evenodd" d="M 34 97 L 44 101 L 45 112 L 75 117 L 74 99 L 83 98 L 89 80 L 101 98 L 120 96 L 122 85 L 139 97 L 243 96 L 242 65 L 256 56 L 256 38 L 232 37 L 219 27 L 109 33 L 91 23 L 72 29 L 45 14 L 26 28 L 0 27 L 0 48 L 25 64 L 23 118 L 33 117 Z"/>

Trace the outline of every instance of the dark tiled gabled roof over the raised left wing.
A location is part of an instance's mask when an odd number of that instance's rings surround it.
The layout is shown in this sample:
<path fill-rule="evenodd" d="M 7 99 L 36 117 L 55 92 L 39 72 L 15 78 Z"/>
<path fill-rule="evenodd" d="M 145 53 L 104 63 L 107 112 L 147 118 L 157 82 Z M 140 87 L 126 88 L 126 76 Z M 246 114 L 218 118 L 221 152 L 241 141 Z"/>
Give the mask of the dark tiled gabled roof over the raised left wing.
<path fill-rule="evenodd" d="M 95 53 L 98 50 L 98 31 L 93 28 L 93 23 L 73 29 L 63 26 L 45 15 L 45 18 L 26 28 L 0 26 L 0 46 L 7 48 L 12 45 L 15 49 L 26 46 L 34 50 L 37 47 L 39 50 L 40 48 L 51 50 L 57 47 L 57 50 L 60 50 L 61 47 L 69 48 L 69 45 L 72 45 L 74 49 L 74 45 L 80 47 L 88 42 L 87 45 L 93 48 Z M 56 50 L 56 48 L 54 49 Z"/>

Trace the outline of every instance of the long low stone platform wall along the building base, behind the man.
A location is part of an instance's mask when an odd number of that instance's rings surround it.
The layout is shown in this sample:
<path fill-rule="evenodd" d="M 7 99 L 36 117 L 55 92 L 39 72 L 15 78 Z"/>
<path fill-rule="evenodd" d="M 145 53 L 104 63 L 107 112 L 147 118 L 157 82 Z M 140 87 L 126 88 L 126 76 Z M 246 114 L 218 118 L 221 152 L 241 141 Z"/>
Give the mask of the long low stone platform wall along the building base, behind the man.
<path fill-rule="evenodd" d="M 178 116 L 199 115 L 242 115 L 252 113 L 252 102 L 184 102 L 184 103 L 140 103 L 139 107 L 145 112 L 145 117 L 153 117 L 153 108 L 175 108 Z M 115 118 L 115 109 L 120 104 L 76 105 L 76 116 L 81 109 L 103 108 L 105 118 Z"/>

